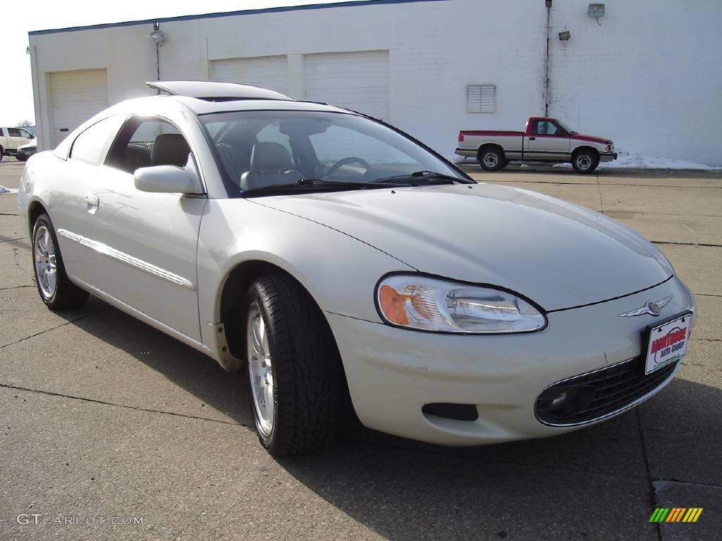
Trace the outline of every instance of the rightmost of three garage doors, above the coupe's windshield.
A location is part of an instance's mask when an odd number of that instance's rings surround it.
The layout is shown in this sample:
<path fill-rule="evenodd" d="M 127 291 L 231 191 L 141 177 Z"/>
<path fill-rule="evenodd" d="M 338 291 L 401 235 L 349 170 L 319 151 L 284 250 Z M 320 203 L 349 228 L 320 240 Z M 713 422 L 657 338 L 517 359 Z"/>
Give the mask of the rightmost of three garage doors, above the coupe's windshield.
<path fill-rule="evenodd" d="M 388 118 L 388 50 L 306 55 L 306 100 Z"/>

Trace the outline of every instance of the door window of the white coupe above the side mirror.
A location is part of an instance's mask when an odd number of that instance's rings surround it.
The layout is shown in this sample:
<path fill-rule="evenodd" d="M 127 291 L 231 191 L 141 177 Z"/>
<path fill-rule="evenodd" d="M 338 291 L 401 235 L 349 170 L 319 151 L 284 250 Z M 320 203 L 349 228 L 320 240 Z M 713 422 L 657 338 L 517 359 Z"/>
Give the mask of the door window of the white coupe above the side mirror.
<path fill-rule="evenodd" d="M 168 120 L 133 117 L 126 121 L 105 164 L 131 175 L 140 167 L 188 163 L 186 138 Z"/>

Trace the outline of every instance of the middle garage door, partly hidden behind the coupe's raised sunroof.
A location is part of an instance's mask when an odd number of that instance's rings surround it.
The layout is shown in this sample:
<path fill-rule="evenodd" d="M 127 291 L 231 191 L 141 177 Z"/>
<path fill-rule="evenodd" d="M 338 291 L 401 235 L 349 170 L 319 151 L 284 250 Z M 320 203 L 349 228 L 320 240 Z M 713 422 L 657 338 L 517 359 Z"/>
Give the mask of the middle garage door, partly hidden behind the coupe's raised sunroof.
<path fill-rule="evenodd" d="M 213 80 L 224 83 L 253 84 L 287 93 L 287 57 L 224 58 L 213 61 Z"/>

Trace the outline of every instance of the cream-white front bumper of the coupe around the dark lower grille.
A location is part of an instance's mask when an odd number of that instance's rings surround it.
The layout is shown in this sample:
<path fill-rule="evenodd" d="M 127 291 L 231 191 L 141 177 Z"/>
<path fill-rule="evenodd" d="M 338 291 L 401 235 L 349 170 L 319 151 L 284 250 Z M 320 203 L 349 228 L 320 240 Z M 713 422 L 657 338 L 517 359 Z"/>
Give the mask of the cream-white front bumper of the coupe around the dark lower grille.
<path fill-rule="evenodd" d="M 650 300 L 671 295 L 659 317 L 618 317 Z M 553 436 L 577 426 L 547 426 L 534 405 L 562 379 L 643 355 L 647 325 L 692 309 L 692 296 L 677 279 L 648 291 L 594 306 L 552 312 L 549 326 L 517 335 L 443 335 L 326 314 L 339 346 L 349 392 L 369 428 L 445 445 L 490 444 Z M 678 368 L 677 368 L 678 369 Z M 669 377 L 619 408 L 643 402 Z M 475 405 L 478 418 L 460 421 L 422 412 L 426 404 Z"/>

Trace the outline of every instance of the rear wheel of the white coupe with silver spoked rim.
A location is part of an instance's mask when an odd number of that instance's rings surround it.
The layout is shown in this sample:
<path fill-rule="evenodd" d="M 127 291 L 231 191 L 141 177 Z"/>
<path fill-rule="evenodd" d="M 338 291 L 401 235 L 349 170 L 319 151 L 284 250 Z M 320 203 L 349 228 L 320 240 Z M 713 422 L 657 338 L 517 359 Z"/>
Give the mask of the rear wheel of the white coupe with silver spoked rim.
<path fill-rule="evenodd" d="M 59 246 L 50 216 L 40 214 L 32 227 L 32 268 L 40 299 L 53 311 L 79 308 L 88 298 L 68 278 Z"/>

